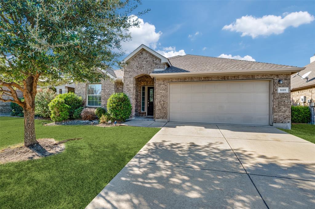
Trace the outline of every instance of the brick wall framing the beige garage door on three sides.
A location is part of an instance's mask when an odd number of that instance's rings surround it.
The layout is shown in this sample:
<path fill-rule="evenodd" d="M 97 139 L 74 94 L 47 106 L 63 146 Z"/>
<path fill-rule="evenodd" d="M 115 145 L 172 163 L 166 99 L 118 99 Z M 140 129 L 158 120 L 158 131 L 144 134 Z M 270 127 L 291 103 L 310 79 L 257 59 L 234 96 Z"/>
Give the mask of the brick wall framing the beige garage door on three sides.
<path fill-rule="evenodd" d="M 155 119 L 168 119 L 168 83 L 183 81 L 215 81 L 215 80 L 250 80 L 250 79 L 272 79 L 273 80 L 273 123 L 291 122 L 290 93 L 278 93 L 278 87 L 289 87 L 290 74 L 268 74 L 268 75 L 238 75 L 238 76 L 212 76 L 192 78 L 166 78 L 155 79 Z M 283 84 L 278 84 L 282 79 Z"/>

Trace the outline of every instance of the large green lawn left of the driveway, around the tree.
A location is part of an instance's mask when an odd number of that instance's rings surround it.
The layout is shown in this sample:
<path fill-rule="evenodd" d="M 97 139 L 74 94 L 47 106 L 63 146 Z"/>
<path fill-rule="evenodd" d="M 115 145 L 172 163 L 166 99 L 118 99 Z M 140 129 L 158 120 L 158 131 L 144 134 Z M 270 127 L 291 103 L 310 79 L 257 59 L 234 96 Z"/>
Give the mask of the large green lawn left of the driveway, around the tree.
<path fill-rule="evenodd" d="M 64 152 L 0 165 L 1 208 L 84 208 L 158 128 L 41 126 L 37 138 L 64 140 Z M 0 117 L 0 146 L 23 142 L 23 118 Z"/>

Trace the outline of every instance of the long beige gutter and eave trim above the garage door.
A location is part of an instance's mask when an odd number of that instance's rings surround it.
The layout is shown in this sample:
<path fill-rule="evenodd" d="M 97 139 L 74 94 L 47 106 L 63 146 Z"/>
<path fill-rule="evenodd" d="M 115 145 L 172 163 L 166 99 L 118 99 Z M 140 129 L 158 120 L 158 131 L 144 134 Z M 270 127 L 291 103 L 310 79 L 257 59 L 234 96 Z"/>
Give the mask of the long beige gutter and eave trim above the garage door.
<path fill-rule="evenodd" d="M 293 74 L 305 68 L 272 68 L 272 69 L 248 69 L 248 70 L 221 70 L 183 73 L 151 73 L 152 78 L 180 78 L 195 76 L 217 76 L 217 75 L 254 75 L 254 74 Z"/>

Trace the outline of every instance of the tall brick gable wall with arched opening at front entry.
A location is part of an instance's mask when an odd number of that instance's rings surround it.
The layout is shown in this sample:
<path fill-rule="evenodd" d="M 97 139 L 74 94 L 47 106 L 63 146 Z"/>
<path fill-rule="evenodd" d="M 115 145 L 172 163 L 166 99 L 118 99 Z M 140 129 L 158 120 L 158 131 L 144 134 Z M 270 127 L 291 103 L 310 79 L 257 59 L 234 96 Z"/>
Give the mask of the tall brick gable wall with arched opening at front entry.
<path fill-rule="evenodd" d="M 157 58 L 146 50 L 140 51 L 134 58 L 130 59 L 124 66 L 124 83 L 123 92 L 129 97 L 132 112 L 131 117 L 135 117 L 136 105 L 136 85 L 135 79 L 142 75 L 148 75 L 154 69 L 165 68 L 166 64 L 161 63 L 161 59 Z M 140 98 L 141 99 L 141 98 Z"/>

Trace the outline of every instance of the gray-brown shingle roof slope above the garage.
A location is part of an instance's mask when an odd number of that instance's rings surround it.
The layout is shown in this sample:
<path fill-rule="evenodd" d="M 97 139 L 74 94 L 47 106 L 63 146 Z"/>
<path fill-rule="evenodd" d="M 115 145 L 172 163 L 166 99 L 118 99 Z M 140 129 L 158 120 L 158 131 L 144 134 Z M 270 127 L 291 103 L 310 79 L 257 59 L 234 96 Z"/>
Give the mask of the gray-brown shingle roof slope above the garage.
<path fill-rule="evenodd" d="M 250 69 L 279 69 L 293 68 L 295 66 L 252 62 L 245 60 L 205 57 L 199 55 L 184 55 L 169 58 L 171 67 L 154 73 L 184 73 L 225 70 L 250 70 Z"/>

